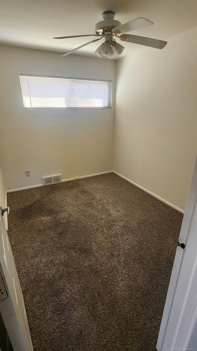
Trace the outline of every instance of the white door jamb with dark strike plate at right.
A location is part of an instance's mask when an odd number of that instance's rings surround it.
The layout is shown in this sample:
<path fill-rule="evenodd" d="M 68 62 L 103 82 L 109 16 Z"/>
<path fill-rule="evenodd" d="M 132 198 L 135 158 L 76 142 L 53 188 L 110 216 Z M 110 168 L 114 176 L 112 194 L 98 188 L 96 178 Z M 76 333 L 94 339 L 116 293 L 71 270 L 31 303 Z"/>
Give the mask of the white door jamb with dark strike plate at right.
<path fill-rule="evenodd" d="M 197 158 L 156 348 L 197 350 Z M 185 247 L 184 247 L 185 245 Z"/>

